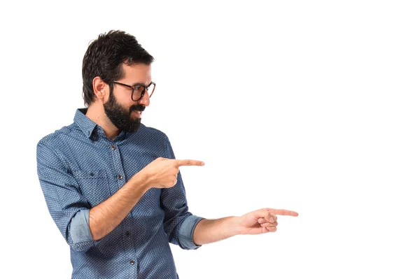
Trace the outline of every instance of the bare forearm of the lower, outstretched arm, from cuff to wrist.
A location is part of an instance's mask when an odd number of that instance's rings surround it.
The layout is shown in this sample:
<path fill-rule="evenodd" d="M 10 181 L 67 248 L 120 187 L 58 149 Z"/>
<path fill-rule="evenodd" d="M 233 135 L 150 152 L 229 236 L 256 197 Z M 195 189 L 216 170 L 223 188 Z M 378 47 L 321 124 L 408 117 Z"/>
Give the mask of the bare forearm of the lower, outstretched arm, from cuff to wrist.
<path fill-rule="evenodd" d="M 201 220 L 194 230 L 194 243 L 202 245 L 236 236 L 239 234 L 237 218 L 231 216 L 216 220 Z"/>

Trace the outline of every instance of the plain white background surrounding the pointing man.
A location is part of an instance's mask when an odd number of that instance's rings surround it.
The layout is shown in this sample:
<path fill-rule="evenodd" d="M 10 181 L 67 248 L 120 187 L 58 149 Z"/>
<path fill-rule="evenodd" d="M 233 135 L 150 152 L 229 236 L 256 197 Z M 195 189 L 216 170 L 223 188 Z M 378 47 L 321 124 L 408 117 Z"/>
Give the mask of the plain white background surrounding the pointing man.
<path fill-rule="evenodd" d="M 71 276 L 36 143 L 83 107 L 83 55 L 111 29 L 155 57 L 144 124 L 206 162 L 181 169 L 192 213 L 300 213 L 172 245 L 181 279 L 420 278 L 418 2 L 149 2 L 1 3 L 0 278 Z"/>

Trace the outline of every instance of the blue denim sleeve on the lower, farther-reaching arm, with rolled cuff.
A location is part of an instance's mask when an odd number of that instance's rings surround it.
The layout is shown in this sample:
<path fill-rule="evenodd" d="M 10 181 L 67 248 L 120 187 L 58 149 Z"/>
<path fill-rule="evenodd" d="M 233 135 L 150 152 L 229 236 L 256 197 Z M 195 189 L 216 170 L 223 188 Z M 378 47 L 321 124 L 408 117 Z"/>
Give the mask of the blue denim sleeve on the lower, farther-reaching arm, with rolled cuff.
<path fill-rule="evenodd" d="M 165 135 L 167 145 L 167 158 L 175 159 L 174 150 Z M 178 173 L 174 187 L 162 189 L 160 203 L 165 210 L 164 228 L 170 243 L 179 245 L 184 250 L 195 250 L 201 245 L 193 241 L 194 229 L 202 217 L 193 215 L 188 211 L 186 189 L 183 185 L 181 172 Z"/>

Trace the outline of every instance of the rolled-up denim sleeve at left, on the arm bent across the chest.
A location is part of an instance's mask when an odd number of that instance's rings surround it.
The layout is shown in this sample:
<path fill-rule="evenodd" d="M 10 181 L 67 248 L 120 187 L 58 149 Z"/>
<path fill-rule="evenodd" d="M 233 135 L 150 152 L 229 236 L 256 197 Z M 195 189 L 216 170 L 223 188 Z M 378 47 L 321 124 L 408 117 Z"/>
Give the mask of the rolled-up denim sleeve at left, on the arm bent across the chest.
<path fill-rule="evenodd" d="M 48 211 L 70 248 L 83 252 L 96 245 L 89 228 L 90 205 L 71 170 L 43 142 L 37 145 L 36 163 Z"/>

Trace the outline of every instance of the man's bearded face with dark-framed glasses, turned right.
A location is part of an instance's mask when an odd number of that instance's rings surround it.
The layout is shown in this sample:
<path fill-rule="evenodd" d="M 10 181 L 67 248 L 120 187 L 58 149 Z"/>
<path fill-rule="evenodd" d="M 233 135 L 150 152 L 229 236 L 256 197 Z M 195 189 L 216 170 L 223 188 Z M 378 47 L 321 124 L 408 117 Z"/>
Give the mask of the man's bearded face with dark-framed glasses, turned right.
<path fill-rule="evenodd" d="M 150 85 L 151 66 L 146 64 L 134 64 L 127 66 L 123 64 L 124 76 L 118 83 L 126 85 L 137 85 L 143 83 Z M 104 110 L 109 120 L 119 130 L 137 131 L 140 128 L 141 113 L 150 103 L 149 94 L 146 90 L 139 101 L 132 100 L 132 89 L 124 85 L 114 84 L 110 87 L 109 99 L 104 103 Z"/>

